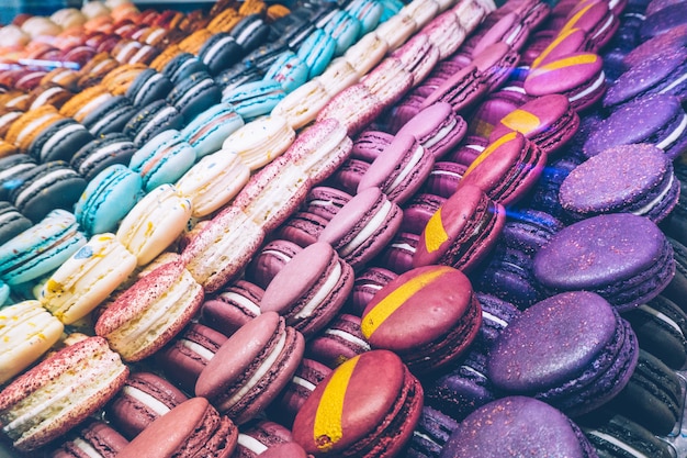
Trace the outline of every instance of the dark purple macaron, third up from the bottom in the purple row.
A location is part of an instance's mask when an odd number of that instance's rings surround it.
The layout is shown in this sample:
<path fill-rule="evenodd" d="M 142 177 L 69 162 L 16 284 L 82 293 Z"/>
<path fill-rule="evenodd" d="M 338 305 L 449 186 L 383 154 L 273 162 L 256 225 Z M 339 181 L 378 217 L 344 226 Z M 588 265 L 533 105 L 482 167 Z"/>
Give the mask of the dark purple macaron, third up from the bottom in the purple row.
<path fill-rule="evenodd" d="M 675 260 L 673 247 L 651 220 L 613 213 L 563 228 L 537 253 L 533 269 L 549 292 L 594 291 L 626 311 L 668 284 Z"/>

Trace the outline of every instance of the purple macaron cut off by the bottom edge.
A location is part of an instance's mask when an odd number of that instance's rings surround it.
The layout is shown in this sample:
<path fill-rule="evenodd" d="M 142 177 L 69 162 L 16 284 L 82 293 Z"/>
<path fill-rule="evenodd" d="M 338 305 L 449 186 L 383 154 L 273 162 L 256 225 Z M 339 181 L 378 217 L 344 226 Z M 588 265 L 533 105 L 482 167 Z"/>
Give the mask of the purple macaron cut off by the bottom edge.
<path fill-rule="evenodd" d="M 514 456 L 597 458 L 573 421 L 525 396 L 507 396 L 477 409 L 453 431 L 439 457 L 503 458 L 505 450 Z"/>

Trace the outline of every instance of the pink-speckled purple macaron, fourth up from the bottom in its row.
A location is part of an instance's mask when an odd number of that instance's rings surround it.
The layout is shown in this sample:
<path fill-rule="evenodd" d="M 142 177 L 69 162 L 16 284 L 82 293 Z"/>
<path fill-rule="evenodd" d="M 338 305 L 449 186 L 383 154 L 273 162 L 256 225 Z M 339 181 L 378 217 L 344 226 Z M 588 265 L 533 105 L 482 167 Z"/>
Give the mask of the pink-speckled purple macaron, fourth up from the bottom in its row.
<path fill-rule="evenodd" d="M 658 224 L 679 197 L 673 163 L 655 146 L 611 147 L 577 166 L 563 180 L 559 198 L 574 219 L 634 213 Z"/>

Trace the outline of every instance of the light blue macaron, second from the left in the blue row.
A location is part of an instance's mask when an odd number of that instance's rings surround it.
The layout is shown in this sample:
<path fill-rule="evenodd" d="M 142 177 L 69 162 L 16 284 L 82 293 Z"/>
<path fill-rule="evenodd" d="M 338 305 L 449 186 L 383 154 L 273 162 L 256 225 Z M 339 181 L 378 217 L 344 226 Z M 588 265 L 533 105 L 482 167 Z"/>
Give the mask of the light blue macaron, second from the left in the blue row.
<path fill-rule="evenodd" d="M 104 168 L 88 183 L 75 205 L 74 214 L 88 236 L 115 232 L 142 193 L 140 174 L 115 164 Z"/>

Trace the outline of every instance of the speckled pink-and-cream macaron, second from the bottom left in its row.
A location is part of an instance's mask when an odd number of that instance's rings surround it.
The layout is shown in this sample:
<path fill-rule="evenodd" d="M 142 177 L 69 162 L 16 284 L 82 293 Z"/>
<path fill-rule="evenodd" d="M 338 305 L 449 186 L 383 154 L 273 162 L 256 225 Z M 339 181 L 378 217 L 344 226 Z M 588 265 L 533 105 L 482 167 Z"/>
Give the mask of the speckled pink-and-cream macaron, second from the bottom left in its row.
<path fill-rule="evenodd" d="M 124 360 L 139 361 L 181 332 L 203 298 L 202 287 L 182 262 L 167 262 L 119 295 L 99 316 L 95 333 Z"/>

